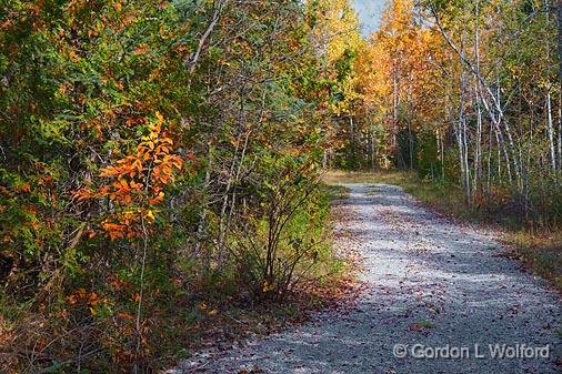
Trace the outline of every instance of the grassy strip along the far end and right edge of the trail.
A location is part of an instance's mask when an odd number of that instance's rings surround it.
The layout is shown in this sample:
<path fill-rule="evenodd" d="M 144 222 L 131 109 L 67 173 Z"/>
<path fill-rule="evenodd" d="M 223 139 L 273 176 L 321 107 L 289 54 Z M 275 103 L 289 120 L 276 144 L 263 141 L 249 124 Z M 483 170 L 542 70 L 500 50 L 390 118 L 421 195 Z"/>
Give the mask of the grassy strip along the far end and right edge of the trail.
<path fill-rule="evenodd" d="M 562 230 L 536 230 L 518 223 L 510 213 L 468 209 L 462 190 L 453 184 L 423 181 L 417 173 L 403 171 L 344 172 L 330 171 L 324 183 L 388 183 L 400 185 L 420 202 L 446 216 L 476 223 L 502 233 L 502 243 L 510 249 L 505 255 L 520 260 L 531 272 L 549 280 L 562 292 Z"/>

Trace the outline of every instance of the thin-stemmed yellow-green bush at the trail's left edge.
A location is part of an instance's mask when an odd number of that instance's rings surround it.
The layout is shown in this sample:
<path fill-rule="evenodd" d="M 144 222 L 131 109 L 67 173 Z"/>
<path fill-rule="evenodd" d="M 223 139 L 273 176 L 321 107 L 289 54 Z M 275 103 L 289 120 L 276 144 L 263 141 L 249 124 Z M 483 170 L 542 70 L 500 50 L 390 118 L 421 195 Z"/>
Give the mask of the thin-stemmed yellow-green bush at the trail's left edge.
<path fill-rule="evenodd" d="M 264 154 L 257 165 L 268 175 L 252 188 L 260 204 L 244 212 L 248 221 L 234 229 L 232 245 L 238 273 L 259 297 L 282 300 L 319 260 L 328 204 L 314 164 L 305 155 Z"/>

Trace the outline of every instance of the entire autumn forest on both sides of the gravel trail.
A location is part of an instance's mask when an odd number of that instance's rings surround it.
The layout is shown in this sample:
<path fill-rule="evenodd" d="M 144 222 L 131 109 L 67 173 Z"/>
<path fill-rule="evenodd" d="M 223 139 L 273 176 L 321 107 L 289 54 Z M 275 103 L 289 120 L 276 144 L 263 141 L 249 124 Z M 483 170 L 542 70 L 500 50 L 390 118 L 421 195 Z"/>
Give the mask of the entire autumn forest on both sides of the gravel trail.
<path fill-rule="evenodd" d="M 561 224 L 560 1 L 389 1 L 368 40 L 348 0 L 0 4 L 0 370 L 157 371 L 338 287 L 329 168 Z"/>

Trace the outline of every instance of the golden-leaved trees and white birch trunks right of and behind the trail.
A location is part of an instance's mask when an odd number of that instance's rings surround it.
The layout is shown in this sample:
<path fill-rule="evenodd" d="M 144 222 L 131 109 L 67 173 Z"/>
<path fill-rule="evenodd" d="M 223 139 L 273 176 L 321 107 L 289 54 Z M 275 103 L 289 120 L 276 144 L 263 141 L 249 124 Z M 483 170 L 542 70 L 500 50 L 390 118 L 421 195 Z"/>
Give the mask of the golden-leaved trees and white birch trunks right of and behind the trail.
<path fill-rule="evenodd" d="M 354 47 L 332 163 L 413 169 L 469 204 L 560 223 L 560 17 L 551 1 L 393 1 Z"/>

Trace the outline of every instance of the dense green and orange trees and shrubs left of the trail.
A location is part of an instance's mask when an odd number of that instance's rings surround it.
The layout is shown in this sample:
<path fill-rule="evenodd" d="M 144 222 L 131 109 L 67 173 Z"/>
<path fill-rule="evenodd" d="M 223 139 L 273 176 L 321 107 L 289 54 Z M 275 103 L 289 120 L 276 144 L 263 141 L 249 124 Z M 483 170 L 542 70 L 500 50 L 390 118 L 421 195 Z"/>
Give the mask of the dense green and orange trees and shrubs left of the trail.
<path fill-rule="evenodd" d="M 82 371 L 158 370 L 187 340 L 167 325 L 215 315 L 197 303 L 281 301 L 329 259 L 317 16 L 298 0 L 2 1 L 0 370 L 73 370 L 83 336 Z M 31 345 L 48 358 L 23 363 Z"/>

